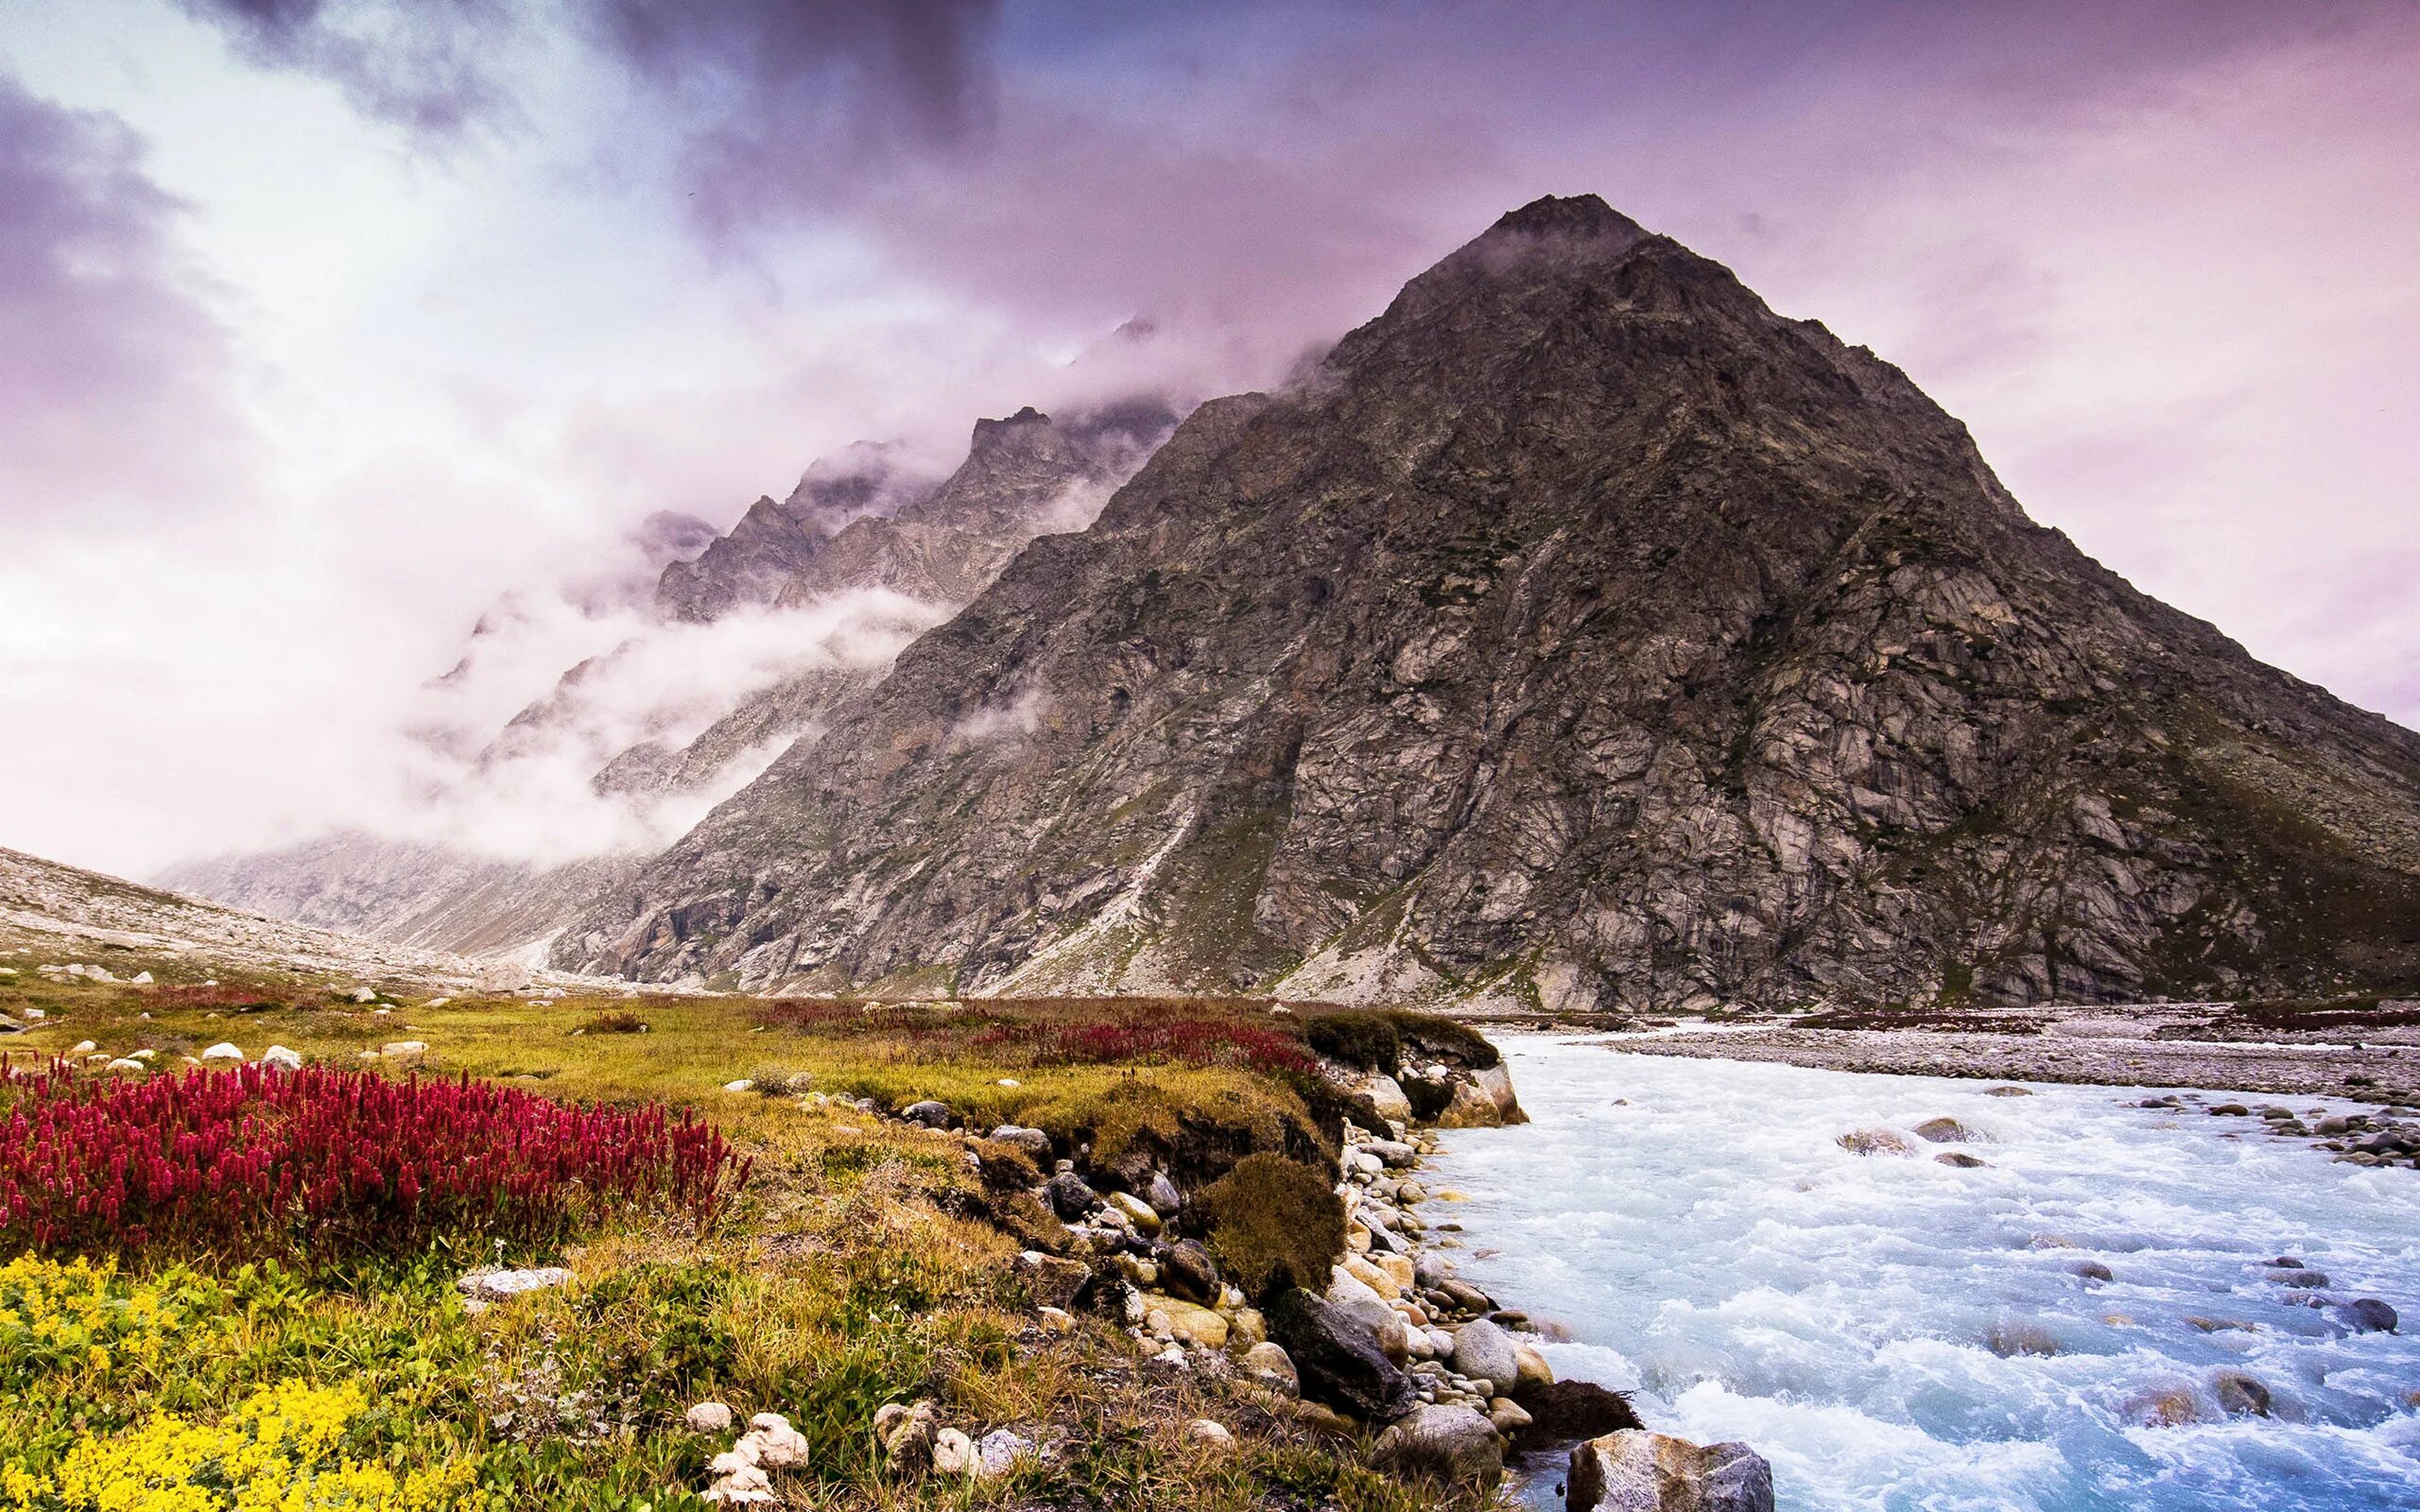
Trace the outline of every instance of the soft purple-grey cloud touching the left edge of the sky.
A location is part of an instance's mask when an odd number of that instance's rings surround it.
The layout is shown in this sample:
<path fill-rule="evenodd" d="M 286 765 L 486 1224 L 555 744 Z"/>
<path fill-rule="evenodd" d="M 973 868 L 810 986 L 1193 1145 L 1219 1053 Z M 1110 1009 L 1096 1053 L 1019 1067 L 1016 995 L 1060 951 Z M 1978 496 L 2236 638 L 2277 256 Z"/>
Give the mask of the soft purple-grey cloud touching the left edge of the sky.
<path fill-rule="evenodd" d="M 0 75 L 0 518 L 116 530 L 249 464 L 232 353 L 123 121 Z"/>

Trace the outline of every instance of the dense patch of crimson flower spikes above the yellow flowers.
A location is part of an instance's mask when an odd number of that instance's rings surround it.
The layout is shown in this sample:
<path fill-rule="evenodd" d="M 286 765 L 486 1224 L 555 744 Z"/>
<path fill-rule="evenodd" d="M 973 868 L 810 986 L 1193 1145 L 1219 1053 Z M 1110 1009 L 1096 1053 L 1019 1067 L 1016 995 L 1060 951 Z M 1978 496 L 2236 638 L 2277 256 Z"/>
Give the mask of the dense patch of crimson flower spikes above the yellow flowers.
<path fill-rule="evenodd" d="M 469 1081 L 247 1064 L 145 1081 L 12 1074 L 0 1251 L 341 1258 L 547 1246 L 612 1210 L 709 1219 L 748 1178 L 711 1125 Z"/>

